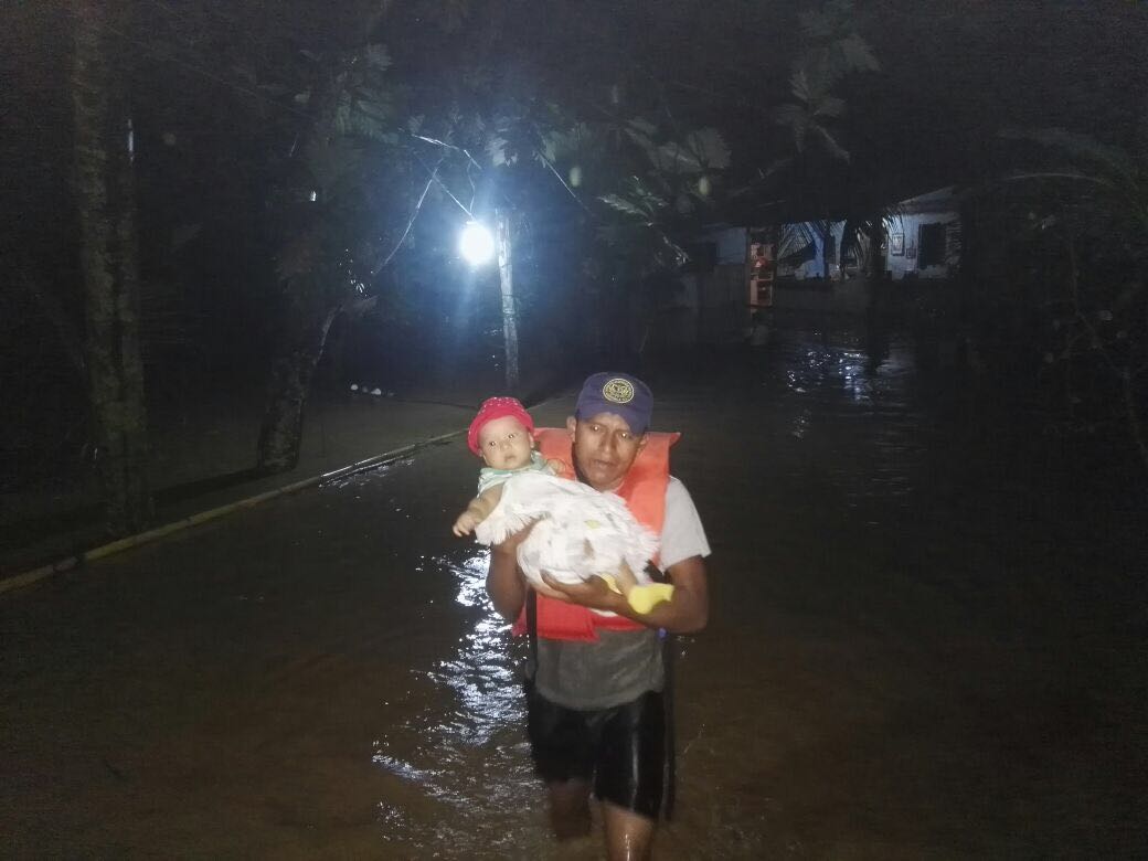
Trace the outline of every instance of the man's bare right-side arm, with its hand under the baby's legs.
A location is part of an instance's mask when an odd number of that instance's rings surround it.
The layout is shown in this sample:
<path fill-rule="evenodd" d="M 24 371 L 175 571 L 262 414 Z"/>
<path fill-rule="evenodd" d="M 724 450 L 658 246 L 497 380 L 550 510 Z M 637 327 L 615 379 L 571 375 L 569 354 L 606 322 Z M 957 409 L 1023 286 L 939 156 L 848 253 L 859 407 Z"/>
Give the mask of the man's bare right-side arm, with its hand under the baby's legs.
<path fill-rule="evenodd" d="M 572 604 L 581 604 L 591 610 L 608 610 L 651 628 L 665 628 L 670 634 L 695 634 L 701 630 L 709 621 L 705 560 L 700 556 L 691 556 L 670 565 L 666 573 L 674 584 L 674 596 L 645 614 L 634 612 L 626 598 L 606 585 L 602 577 L 590 577 L 584 583 L 574 584 L 559 583 L 545 573 L 542 579 Z"/>

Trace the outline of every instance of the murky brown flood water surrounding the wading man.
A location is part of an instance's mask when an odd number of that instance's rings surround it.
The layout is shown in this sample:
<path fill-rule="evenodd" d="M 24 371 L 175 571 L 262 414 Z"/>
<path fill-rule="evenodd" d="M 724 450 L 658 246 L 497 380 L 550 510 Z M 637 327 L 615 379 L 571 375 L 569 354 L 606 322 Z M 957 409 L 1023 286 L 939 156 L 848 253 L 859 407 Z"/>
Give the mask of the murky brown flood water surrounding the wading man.
<path fill-rule="evenodd" d="M 882 354 L 793 326 L 651 379 L 714 550 L 659 856 L 1142 854 L 1142 506 Z M 519 646 L 450 534 L 475 467 L 424 450 L 5 596 L 3 854 L 598 856 L 548 835 Z"/>

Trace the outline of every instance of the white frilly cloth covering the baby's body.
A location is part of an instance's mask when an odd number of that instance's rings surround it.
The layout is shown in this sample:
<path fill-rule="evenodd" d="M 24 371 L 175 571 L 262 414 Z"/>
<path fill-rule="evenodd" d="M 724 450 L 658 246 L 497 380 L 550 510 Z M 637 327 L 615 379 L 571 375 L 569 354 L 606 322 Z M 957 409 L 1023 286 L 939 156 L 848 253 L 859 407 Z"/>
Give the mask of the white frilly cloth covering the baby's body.
<path fill-rule="evenodd" d="M 649 583 L 646 563 L 658 552 L 658 536 L 642 526 L 621 497 L 540 472 L 522 472 L 503 483 L 502 501 L 479 523 L 482 544 L 499 544 L 526 528 L 518 564 L 534 583 L 546 572 L 563 583 L 613 574 L 625 561 L 639 583 Z"/>

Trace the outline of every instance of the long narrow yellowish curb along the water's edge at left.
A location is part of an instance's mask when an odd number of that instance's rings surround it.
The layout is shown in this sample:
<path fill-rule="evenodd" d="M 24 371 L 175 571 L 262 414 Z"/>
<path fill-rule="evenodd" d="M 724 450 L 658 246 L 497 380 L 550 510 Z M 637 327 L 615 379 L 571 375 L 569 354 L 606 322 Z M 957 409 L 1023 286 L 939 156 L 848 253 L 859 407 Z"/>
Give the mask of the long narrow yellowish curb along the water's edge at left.
<path fill-rule="evenodd" d="M 274 499 L 279 496 L 286 496 L 287 494 L 294 494 L 304 488 L 315 487 L 321 484 L 326 481 L 336 481 L 339 479 L 344 479 L 348 475 L 354 475 L 355 473 L 364 472 L 366 470 L 372 470 L 377 466 L 383 466 L 398 458 L 410 455 L 419 449 L 426 448 L 427 445 L 434 445 L 439 442 L 444 442 L 455 436 L 465 434 L 466 430 L 451 430 L 448 434 L 440 434 L 439 436 L 432 436 L 426 440 L 420 440 L 418 442 L 412 442 L 408 445 L 403 445 L 391 451 L 385 451 L 381 455 L 374 455 L 364 460 L 358 460 L 348 466 L 342 466 L 338 470 L 331 472 L 320 473 L 319 475 L 312 475 L 309 479 L 302 479 L 301 481 L 294 481 L 290 484 L 285 484 L 284 487 L 274 488 L 273 490 L 265 490 L 262 494 L 256 494 L 255 496 L 249 496 L 243 499 L 238 499 L 235 502 L 227 503 L 225 505 L 219 505 L 215 509 L 208 509 L 207 511 L 201 511 L 197 514 L 191 514 L 186 518 L 174 520 L 170 523 L 164 523 L 163 526 L 157 526 L 154 529 L 148 529 L 147 532 L 139 533 L 137 535 L 129 535 L 124 538 L 118 538 L 108 544 L 101 544 L 100 546 L 92 548 L 91 550 L 85 550 L 76 556 L 70 556 L 67 559 L 61 559 L 57 563 L 52 563 L 49 565 L 42 565 L 39 568 L 33 568 L 32 571 L 26 571 L 23 574 L 13 574 L 11 576 L 0 580 L 0 595 L 3 592 L 11 591 L 14 589 L 22 589 L 33 583 L 52 576 L 53 574 L 61 574 L 65 571 L 71 571 L 77 568 L 85 563 L 92 563 L 96 559 L 103 559 L 104 557 L 118 553 L 122 550 L 129 550 L 131 548 L 138 548 L 142 544 L 148 544 L 157 538 L 162 538 L 172 533 L 180 532 L 181 529 L 187 529 L 193 526 L 199 526 L 200 523 L 205 523 L 209 520 L 216 520 L 226 514 L 232 514 L 241 509 L 254 509 L 261 503 L 265 503 L 269 499 Z"/>

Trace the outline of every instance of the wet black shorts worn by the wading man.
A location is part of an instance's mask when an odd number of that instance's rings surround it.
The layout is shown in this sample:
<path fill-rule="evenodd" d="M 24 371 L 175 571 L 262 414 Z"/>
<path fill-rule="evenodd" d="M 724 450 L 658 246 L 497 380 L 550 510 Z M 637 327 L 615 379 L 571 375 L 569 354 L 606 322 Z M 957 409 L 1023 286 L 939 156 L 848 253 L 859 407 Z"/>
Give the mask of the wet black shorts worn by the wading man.
<path fill-rule="evenodd" d="M 658 819 L 666 763 L 661 693 L 582 712 L 530 691 L 527 705 L 534 769 L 543 781 L 592 782 L 598 800 Z"/>

